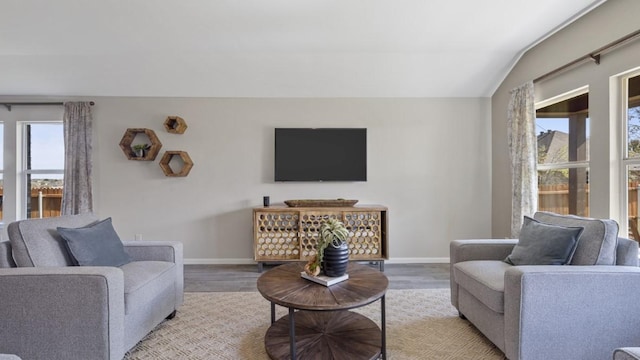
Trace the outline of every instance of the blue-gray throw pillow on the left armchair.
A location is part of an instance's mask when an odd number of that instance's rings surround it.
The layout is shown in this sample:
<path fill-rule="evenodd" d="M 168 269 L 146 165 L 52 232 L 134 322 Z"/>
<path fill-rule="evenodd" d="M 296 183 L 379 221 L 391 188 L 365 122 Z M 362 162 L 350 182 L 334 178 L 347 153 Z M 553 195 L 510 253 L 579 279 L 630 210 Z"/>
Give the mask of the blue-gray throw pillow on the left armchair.
<path fill-rule="evenodd" d="M 80 266 L 122 266 L 131 262 L 111 218 L 81 228 L 57 228 Z"/>

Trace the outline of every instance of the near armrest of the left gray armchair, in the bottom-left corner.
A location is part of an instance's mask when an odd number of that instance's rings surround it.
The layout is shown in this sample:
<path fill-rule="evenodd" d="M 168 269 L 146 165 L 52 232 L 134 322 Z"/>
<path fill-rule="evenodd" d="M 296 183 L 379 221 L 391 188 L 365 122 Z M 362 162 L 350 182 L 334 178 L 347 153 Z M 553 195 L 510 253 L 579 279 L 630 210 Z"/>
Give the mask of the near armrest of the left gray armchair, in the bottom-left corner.
<path fill-rule="evenodd" d="M 122 359 L 124 279 L 115 267 L 0 269 L 0 349 L 23 359 Z"/>

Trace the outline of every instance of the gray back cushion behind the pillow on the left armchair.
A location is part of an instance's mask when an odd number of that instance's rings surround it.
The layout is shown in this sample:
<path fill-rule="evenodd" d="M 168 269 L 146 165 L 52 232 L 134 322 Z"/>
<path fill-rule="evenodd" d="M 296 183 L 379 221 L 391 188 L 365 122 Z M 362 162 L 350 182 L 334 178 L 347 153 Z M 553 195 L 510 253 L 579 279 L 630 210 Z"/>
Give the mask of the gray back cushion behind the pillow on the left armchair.
<path fill-rule="evenodd" d="M 64 215 L 15 221 L 7 227 L 13 258 L 18 267 L 70 266 L 73 261 L 58 226 L 81 227 L 94 223 L 93 214 Z"/>

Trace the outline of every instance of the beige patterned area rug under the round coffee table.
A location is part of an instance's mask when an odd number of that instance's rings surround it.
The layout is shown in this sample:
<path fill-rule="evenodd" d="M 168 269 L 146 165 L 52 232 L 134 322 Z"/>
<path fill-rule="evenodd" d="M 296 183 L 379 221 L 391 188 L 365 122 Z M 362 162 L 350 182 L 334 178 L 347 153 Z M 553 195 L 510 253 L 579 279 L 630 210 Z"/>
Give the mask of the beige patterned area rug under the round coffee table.
<path fill-rule="evenodd" d="M 388 359 L 504 359 L 457 316 L 449 289 L 389 290 L 386 304 Z M 285 308 L 276 309 L 277 318 L 287 314 Z M 379 301 L 354 311 L 380 325 Z M 125 359 L 267 360 L 269 325 L 269 302 L 258 292 L 185 293 L 177 316 L 160 324 Z"/>

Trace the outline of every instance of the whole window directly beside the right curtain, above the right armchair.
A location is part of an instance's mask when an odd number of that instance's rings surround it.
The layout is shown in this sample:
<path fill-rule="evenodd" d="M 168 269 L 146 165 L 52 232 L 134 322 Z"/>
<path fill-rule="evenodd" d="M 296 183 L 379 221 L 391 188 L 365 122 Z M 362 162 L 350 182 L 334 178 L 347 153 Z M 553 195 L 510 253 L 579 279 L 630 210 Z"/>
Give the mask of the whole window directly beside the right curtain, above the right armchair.
<path fill-rule="evenodd" d="M 536 110 L 538 210 L 589 216 L 589 93 L 580 89 Z"/>

